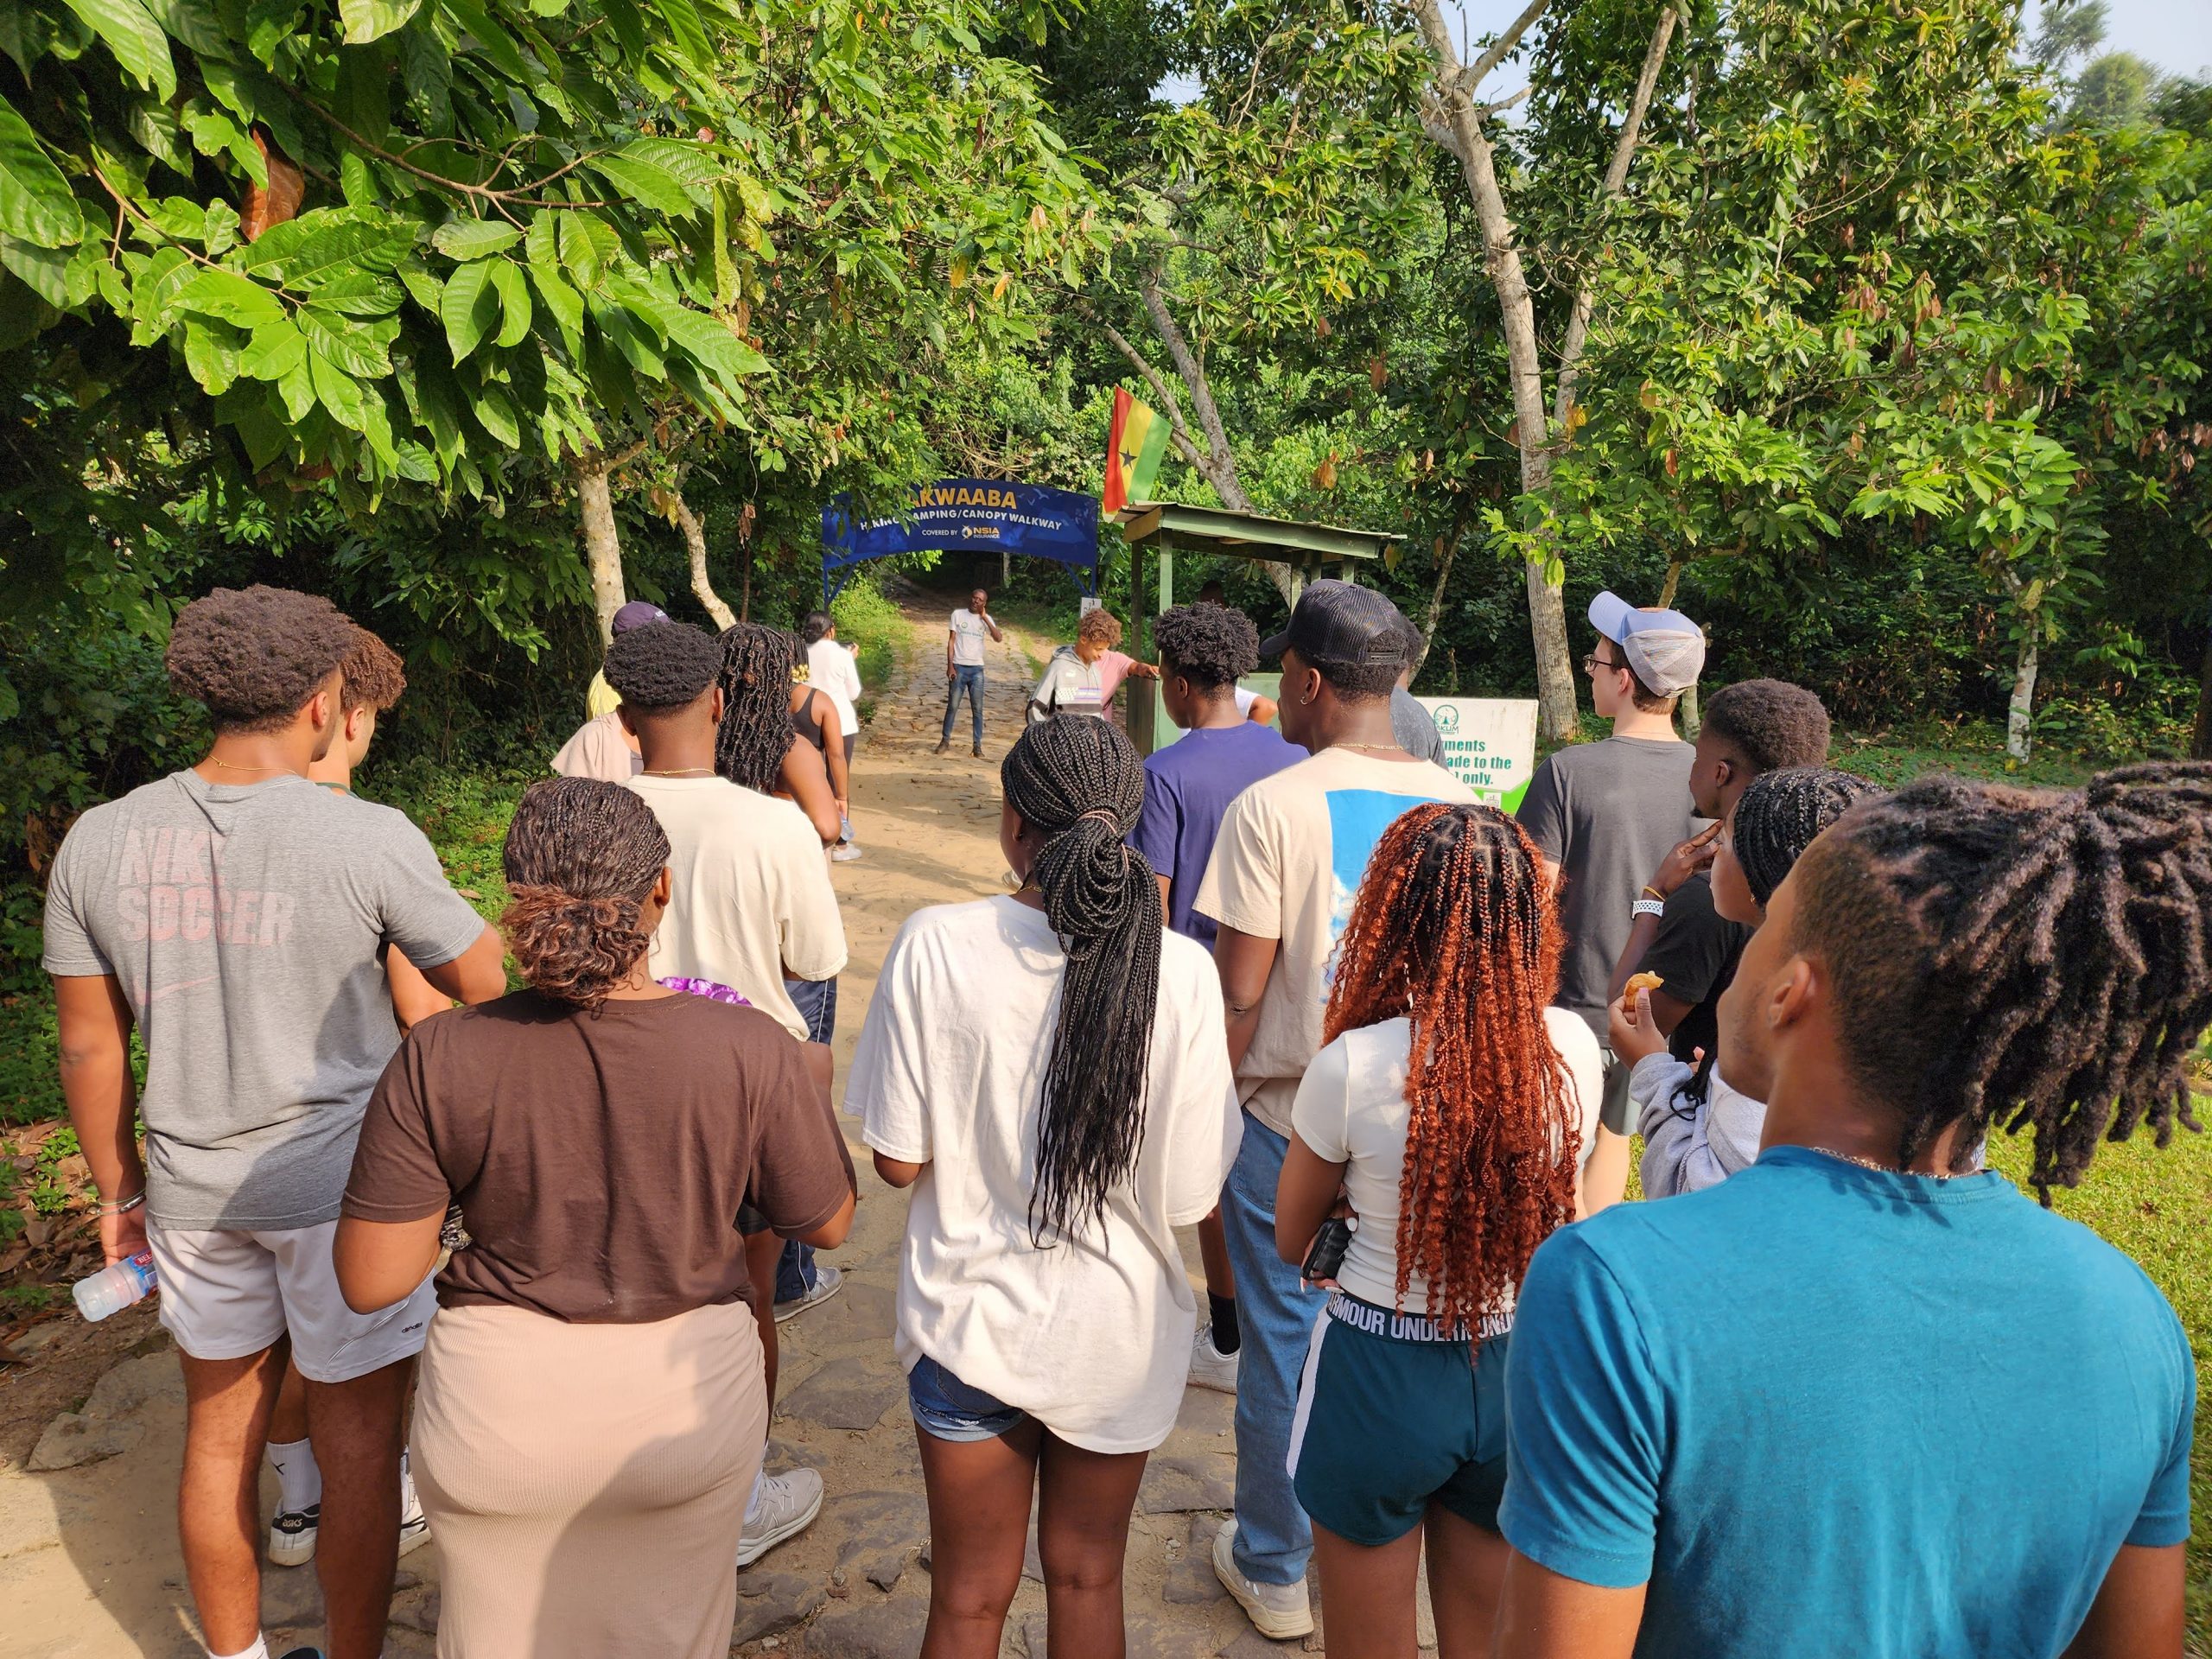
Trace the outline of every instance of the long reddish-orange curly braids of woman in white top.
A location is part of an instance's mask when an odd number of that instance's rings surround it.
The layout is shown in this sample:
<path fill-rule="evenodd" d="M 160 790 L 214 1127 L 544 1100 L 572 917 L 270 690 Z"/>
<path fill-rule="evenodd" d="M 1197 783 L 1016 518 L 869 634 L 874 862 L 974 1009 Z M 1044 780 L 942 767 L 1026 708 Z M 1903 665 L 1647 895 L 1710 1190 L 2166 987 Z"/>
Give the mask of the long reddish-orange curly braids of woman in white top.
<path fill-rule="evenodd" d="M 1575 1217 L 1582 1139 L 1544 1024 L 1557 905 L 1528 834 L 1495 807 L 1425 803 L 1376 843 L 1329 987 L 1327 1037 L 1409 1015 L 1398 1305 L 1480 1327 Z"/>

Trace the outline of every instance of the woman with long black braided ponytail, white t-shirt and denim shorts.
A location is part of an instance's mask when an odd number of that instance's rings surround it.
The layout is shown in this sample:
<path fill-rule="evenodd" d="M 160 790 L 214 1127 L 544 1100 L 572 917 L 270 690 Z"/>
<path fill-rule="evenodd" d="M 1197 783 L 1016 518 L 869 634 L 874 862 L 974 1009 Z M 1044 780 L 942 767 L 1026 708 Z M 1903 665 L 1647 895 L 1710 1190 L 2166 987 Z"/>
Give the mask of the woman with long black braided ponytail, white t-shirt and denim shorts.
<path fill-rule="evenodd" d="M 907 918 L 845 1108 L 914 1188 L 896 1343 L 929 1489 L 922 1652 L 998 1655 L 1035 1493 L 1053 1655 L 1106 1659 L 1197 1329 L 1175 1228 L 1221 1194 L 1237 1097 L 1212 964 L 1124 843 L 1137 750 L 1046 721 L 1000 781 L 1020 891 Z"/>

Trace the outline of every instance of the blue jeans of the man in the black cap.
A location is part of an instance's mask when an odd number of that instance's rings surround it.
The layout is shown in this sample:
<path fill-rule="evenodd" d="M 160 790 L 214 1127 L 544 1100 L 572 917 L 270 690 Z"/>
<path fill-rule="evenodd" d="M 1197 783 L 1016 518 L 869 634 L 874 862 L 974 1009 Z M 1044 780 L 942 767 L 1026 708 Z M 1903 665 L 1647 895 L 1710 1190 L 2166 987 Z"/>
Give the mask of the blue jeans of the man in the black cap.
<path fill-rule="evenodd" d="M 1221 1232 L 1237 1270 L 1237 1571 L 1254 1584 L 1298 1584 L 1314 1528 L 1290 1482 L 1290 1425 L 1314 1321 L 1329 1296 L 1307 1290 L 1274 1250 L 1274 1188 L 1290 1141 L 1245 1113 L 1245 1139 L 1221 1188 Z"/>

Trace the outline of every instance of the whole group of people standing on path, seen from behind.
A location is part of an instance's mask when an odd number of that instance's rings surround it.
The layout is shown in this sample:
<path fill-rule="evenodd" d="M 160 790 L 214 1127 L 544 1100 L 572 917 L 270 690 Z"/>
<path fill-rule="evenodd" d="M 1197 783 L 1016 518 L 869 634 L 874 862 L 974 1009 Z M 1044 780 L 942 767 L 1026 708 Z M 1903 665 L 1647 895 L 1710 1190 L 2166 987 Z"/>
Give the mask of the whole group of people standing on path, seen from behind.
<path fill-rule="evenodd" d="M 1192 1380 L 1237 1394 L 1212 1566 L 1267 1637 L 1312 1566 L 1332 1652 L 1407 1659 L 1427 1555 L 1453 1659 L 2179 1655 L 2185 1336 L 1982 1146 L 2026 1130 L 2048 1194 L 2190 1121 L 2212 768 L 1882 794 L 1781 681 L 1686 743 L 1697 624 L 1590 622 L 1613 737 L 1517 818 L 1407 750 L 1418 635 L 1340 582 L 1265 644 L 1164 615 L 1157 754 L 1077 697 L 1004 754 L 1013 891 L 902 925 L 845 1084 L 911 1190 L 931 1659 L 998 1652 L 1033 1506 L 1055 1659 L 1124 1650 Z M 285 1356 L 336 1659 L 383 1641 L 416 1352 L 440 1652 L 721 1655 L 732 1564 L 818 1506 L 759 1469 L 772 1279 L 858 1190 L 838 836 L 759 635 L 613 639 L 635 768 L 524 794 L 507 993 L 420 832 L 310 781 L 396 697 L 367 635 L 272 588 L 179 615 L 215 743 L 71 830 L 46 967 L 104 1243 L 153 1248 L 184 1354 L 217 1659 L 265 1652 Z M 1281 730 L 1239 708 L 1263 657 Z"/>

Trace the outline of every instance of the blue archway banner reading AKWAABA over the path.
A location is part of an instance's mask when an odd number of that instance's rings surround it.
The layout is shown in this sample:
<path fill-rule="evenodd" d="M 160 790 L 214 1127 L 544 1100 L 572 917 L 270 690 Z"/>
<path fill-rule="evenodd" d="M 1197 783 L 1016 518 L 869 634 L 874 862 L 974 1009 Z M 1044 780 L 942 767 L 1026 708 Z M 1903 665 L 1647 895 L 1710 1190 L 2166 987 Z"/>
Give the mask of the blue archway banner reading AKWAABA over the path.
<path fill-rule="evenodd" d="M 838 495 L 823 507 L 823 599 L 845 586 L 852 566 L 925 549 L 1053 560 L 1093 593 L 1099 502 L 1073 489 L 1004 478 L 940 478 L 914 491 L 905 518 L 854 520 L 852 498 Z"/>

